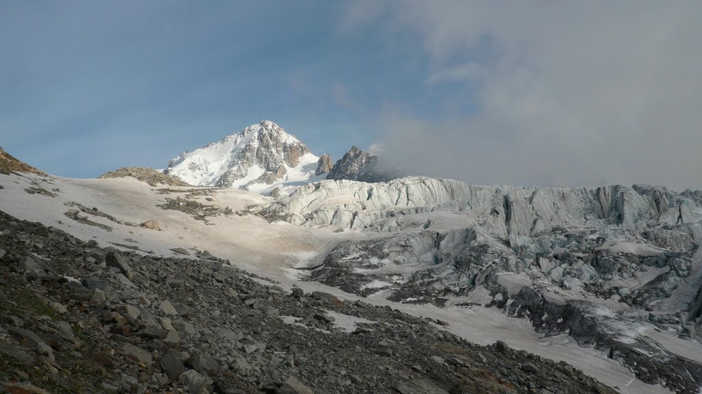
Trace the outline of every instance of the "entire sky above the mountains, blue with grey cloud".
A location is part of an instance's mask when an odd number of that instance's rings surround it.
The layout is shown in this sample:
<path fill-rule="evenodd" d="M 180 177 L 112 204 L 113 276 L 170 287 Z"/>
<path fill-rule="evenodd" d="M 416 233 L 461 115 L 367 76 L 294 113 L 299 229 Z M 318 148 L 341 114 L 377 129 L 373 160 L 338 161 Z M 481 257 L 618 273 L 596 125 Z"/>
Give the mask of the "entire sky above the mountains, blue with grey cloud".
<path fill-rule="evenodd" d="M 0 146 L 163 168 L 267 119 L 336 160 L 702 189 L 700 1 L 3 1 Z"/>

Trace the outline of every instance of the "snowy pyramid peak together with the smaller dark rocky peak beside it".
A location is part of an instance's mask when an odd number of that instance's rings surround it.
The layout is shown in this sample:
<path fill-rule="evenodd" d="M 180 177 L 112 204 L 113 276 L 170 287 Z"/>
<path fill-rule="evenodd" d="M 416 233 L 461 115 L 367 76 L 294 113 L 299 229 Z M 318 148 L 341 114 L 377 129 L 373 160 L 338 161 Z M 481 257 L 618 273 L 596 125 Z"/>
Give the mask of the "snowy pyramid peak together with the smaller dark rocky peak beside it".
<path fill-rule="evenodd" d="M 324 179 L 325 174 L 326 179 L 359 182 L 388 182 L 408 175 L 355 146 L 336 163 L 329 154 L 318 158 L 307 145 L 271 121 L 261 121 L 219 142 L 180 154 L 168 163 L 164 173 L 195 186 L 258 192 L 314 182 Z"/>

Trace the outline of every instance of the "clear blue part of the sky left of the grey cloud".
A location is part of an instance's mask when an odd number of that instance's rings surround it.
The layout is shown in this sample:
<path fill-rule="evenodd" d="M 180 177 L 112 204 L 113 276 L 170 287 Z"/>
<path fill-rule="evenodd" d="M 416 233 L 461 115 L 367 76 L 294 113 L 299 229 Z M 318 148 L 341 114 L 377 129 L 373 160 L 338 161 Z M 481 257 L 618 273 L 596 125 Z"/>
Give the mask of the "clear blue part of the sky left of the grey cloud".
<path fill-rule="evenodd" d="M 261 119 L 339 158 L 402 100 L 431 112 L 409 41 L 343 29 L 328 1 L 16 1 L 0 6 L 1 144 L 57 175 L 169 158 Z M 450 89 L 448 89 L 450 90 Z"/>

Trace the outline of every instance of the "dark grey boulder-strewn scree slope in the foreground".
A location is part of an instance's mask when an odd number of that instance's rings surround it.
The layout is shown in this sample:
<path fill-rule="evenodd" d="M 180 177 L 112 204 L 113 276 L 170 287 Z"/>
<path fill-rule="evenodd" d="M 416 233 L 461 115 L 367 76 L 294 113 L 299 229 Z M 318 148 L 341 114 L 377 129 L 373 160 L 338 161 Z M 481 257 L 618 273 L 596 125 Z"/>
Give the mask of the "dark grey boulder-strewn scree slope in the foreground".
<path fill-rule="evenodd" d="M 0 212 L 8 393 L 615 393 L 390 307 L 286 292 L 206 251 L 119 252 Z"/>

